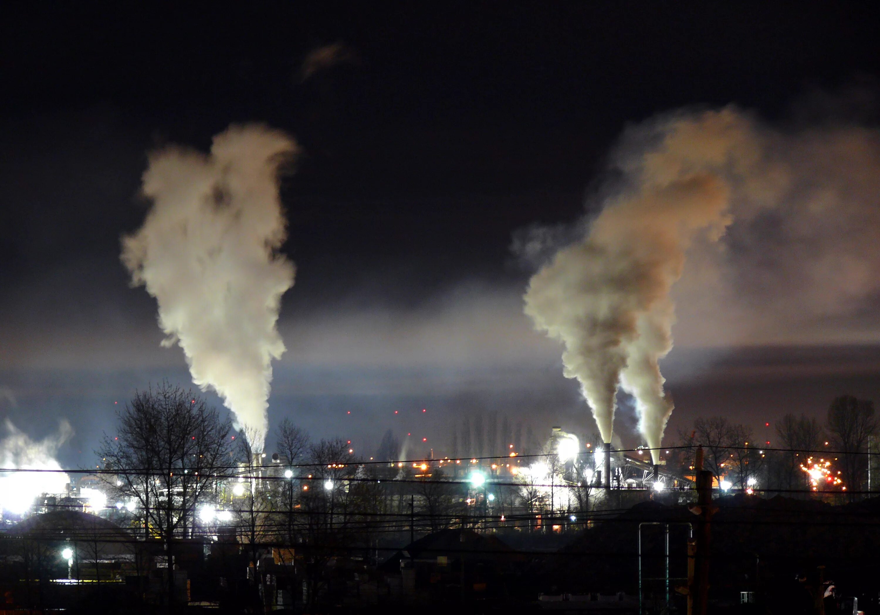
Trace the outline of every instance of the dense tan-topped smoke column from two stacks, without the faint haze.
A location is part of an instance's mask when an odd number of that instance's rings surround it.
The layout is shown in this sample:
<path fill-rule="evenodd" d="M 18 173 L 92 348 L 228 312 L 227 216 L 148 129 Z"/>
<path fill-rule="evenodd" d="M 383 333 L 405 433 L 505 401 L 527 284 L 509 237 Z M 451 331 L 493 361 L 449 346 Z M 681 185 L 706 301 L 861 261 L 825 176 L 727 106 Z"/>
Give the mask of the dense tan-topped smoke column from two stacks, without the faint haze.
<path fill-rule="evenodd" d="M 673 408 L 658 365 L 672 348 L 671 287 L 694 238 L 716 240 L 730 224 L 725 177 L 752 164 L 756 147 L 751 122 L 730 109 L 631 129 L 613 159 L 621 179 L 586 235 L 530 280 L 525 313 L 563 344 L 564 373 L 579 381 L 605 443 L 623 387 L 658 461 Z"/>

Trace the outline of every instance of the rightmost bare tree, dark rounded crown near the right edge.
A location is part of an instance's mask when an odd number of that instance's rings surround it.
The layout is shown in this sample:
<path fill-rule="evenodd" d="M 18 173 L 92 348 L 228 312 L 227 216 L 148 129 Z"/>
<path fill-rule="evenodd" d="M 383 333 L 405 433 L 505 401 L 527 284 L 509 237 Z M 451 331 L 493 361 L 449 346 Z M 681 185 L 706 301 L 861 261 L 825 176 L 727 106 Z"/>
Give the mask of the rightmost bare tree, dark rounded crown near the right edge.
<path fill-rule="evenodd" d="M 828 409 L 827 429 L 834 450 L 840 451 L 843 484 L 852 493 L 862 488 L 868 467 L 868 438 L 877 433 L 874 402 L 841 395 Z"/>

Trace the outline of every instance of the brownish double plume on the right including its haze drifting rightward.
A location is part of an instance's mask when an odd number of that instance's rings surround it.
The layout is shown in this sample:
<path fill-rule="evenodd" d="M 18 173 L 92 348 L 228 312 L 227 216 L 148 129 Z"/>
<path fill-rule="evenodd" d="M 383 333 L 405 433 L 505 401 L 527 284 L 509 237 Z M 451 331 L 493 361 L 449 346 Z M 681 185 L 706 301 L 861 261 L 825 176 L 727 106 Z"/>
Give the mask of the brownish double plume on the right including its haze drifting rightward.
<path fill-rule="evenodd" d="M 565 375 L 605 442 L 622 387 L 658 459 L 672 411 L 659 361 L 672 348 L 673 298 L 691 345 L 880 337 L 867 317 L 880 297 L 876 128 L 679 112 L 630 128 L 612 177 L 584 235 L 524 296 L 536 328 L 564 345 Z"/>

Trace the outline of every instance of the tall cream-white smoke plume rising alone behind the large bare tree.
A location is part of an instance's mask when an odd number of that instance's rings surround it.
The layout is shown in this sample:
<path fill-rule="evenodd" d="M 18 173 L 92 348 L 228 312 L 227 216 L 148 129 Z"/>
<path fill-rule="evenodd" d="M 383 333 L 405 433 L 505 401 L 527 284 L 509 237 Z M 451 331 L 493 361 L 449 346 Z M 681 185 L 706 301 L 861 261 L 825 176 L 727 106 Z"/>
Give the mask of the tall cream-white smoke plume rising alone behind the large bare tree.
<path fill-rule="evenodd" d="M 256 125 L 216 135 L 208 155 L 153 152 L 143 174 L 150 212 L 122 238 L 133 286 L 158 301 L 163 345 L 180 344 L 194 383 L 223 398 L 259 450 L 272 359 L 285 350 L 276 322 L 295 273 L 278 251 L 287 236 L 278 175 L 296 153 L 288 135 Z"/>

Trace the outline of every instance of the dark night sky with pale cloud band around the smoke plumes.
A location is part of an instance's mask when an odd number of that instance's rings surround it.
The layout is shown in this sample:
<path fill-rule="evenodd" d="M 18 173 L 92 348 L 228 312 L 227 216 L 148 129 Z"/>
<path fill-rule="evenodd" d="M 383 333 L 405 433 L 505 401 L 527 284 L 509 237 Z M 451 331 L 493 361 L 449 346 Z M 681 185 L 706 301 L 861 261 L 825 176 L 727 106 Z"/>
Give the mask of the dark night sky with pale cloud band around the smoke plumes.
<path fill-rule="evenodd" d="M 484 409 L 590 431 L 558 348 L 522 315 L 514 235 L 576 221 L 617 135 L 657 112 L 734 103 L 772 121 L 817 91 L 874 83 L 868 5 L 7 8 L 0 416 L 34 437 L 69 417 L 62 457 L 88 464 L 114 402 L 164 377 L 188 384 L 180 349 L 158 347 L 155 301 L 128 288 L 120 235 L 143 221 L 148 150 L 207 148 L 231 122 L 260 121 L 304 151 L 282 192 L 297 283 L 272 423 L 365 448 L 389 427 L 442 447 L 437 428 Z M 308 54 L 332 45 L 332 65 L 304 78 Z M 880 393 L 870 344 L 667 361 L 672 438 L 695 416 L 763 427 Z"/>

